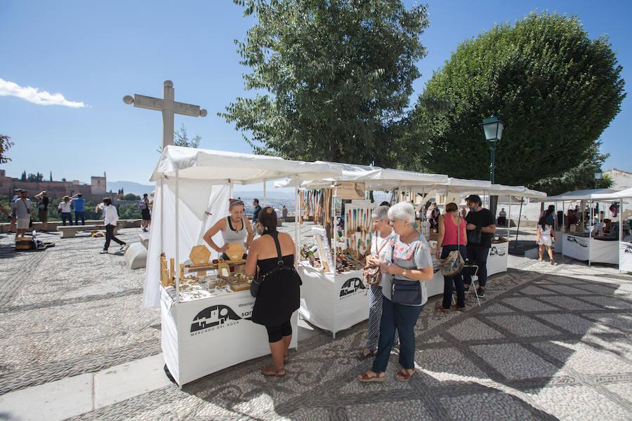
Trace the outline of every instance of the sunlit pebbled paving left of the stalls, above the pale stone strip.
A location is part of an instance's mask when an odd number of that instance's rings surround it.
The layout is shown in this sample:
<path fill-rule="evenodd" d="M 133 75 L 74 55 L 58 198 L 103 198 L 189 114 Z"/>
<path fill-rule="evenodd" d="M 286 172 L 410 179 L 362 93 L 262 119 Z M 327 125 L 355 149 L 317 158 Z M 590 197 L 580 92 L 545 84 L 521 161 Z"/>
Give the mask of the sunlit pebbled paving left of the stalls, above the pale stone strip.
<path fill-rule="evenodd" d="M 159 311 L 143 309 L 145 269 L 127 269 L 115 245 L 99 254 L 103 238 L 78 235 L 39 234 L 55 247 L 22 252 L 0 236 L 0 394 L 160 352 Z"/>

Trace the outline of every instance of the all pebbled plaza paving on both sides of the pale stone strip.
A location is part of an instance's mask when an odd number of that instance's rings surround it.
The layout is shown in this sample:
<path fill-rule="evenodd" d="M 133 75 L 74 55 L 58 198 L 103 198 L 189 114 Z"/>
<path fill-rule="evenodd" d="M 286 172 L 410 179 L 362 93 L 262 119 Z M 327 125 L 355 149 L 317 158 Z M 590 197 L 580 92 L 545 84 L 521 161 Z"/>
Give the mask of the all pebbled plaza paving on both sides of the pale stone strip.
<path fill-rule="evenodd" d="M 136 233 L 126 231 L 124 239 Z M 9 253 L 0 254 L 1 288 L 19 288 L 1 307 L 0 394 L 159 352 L 157 312 L 141 305 L 143 272 L 96 254 L 102 239 L 69 240 L 36 256 L 11 255 L 0 239 Z M 632 276 L 566 259 L 511 257 L 510 266 L 490 277 L 481 307 L 470 297 L 468 312 L 440 314 L 440 297 L 429 300 L 409 382 L 395 381 L 397 348 L 386 382 L 357 382 L 371 365 L 354 357 L 366 335 L 360 323 L 336 340 L 301 341 L 286 377 L 258 373 L 268 356 L 72 419 L 632 419 Z"/>

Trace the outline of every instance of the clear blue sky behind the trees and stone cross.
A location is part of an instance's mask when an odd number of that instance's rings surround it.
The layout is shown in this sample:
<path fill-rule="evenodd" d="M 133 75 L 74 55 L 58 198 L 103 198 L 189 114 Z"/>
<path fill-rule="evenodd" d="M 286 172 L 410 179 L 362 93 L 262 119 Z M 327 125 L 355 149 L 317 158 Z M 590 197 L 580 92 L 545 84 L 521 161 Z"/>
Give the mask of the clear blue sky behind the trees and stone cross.
<path fill-rule="evenodd" d="M 404 1 L 412 6 L 412 1 Z M 632 81 L 629 1 L 456 1 L 429 2 L 430 27 L 423 34 L 428 55 L 418 65 L 414 104 L 433 71 L 456 46 L 495 23 L 513 22 L 529 11 L 577 15 L 591 38 L 610 36 L 622 76 Z M 108 180 L 148 184 L 162 140 L 162 114 L 124 104 L 134 93 L 162 98 L 171 79 L 176 101 L 206 108 L 204 118 L 176 116 L 200 147 L 251 152 L 241 133 L 216 115 L 244 91 L 234 39 L 244 39 L 254 18 L 230 0 L 185 1 L 0 1 L 0 86 L 42 105 L 0 95 L 0 133 L 15 142 L 8 175 L 49 171 L 60 180 L 89 182 L 107 171 Z M 14 85 L 15 84 L 15 85 Z M 17 86 L 17 88 L 16 88 Z M 25 91 L 30 86 L 37 91 Z M 629 85 L 627 87 L 629 91 Z M 0 89 L 0 93 L 1 93 Z M 41 95 L 59 93 L 62 97 Z M 605 168 L 632 171 L 632 98 L 602 135 Z M 84 105 L 83 107 L 81 105 Z M 481 135 L 482 138 L 482 135 Z"/>

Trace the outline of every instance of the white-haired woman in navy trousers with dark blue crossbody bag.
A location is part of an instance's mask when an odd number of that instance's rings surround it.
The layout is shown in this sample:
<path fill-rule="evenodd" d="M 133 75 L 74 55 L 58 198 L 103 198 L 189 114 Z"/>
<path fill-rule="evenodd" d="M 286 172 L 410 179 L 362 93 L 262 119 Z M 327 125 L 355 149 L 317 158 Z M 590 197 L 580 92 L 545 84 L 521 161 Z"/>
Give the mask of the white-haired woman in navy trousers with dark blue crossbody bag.
<path fill-rule="evenodd" d="M 414 328 L 423 306 L 428 301 L 426 281 L 433 279 L 433 261 L 426 238 L 416 232 L 415 210 L 407 202 L 397 203 L 388 210 L 390 225 L 395 236 L 386 246 L 381 263 L 382 316 L 378 350 L 371 370 L 358 377 L 361 382 L 383 382 L 386 366 L 395 340 L 400 335 L 402 370 L 395 380 L 405 382 L 415 372 Z"/>

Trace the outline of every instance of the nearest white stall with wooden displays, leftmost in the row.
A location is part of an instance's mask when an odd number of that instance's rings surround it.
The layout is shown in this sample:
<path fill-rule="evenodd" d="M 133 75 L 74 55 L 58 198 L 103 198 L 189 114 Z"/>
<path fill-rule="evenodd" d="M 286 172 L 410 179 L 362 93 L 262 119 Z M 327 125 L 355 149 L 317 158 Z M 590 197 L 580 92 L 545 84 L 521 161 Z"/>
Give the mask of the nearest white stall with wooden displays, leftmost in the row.
<path fill-rule="evenodd" d="M 313 179 L 335 173 L 326 163 L 287 161 L 274 156 L 167 146 L 151 181 L 157 183 L 147 248 L 145 307 L 160 307 L 162 351 L 178 385 L 259 356 L 270 354 L 263 326 L 249 321 L 254 298 L 249 290 L 181 300 L 180 273 L 175 288 L 159 284 L 160 256 L 176 267 L 217 220 L 228 215 L 232 185 L 265 180 Z M 298 206 L 298 203 L 297 203 Z M 298 230 L 298 226 L 297 226 Z M 213 239 L 222 243 L 220 234 Z M 211 259 L 216 252 L 211 250 Z M 298 314 L 292 317 L 296 332 Z M 291 347 L 296 347 L 294 335 Z"/>

